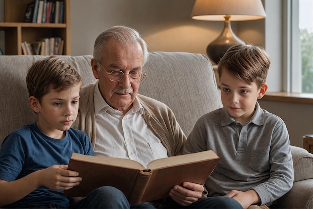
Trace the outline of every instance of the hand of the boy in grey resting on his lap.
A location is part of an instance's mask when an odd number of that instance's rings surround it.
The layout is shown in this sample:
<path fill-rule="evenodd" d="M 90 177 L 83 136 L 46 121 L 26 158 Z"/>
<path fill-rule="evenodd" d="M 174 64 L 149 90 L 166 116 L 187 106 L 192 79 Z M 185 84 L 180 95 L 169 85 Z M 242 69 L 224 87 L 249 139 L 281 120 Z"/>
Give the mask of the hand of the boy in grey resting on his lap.
<path fill-rule="evenodd" d="M 244 209 L 248 208 L 251 204 L 256 204 L 261 201 L 260 197 L 253 189 L 248 191 L 232 190 L 225 196 L 235 199 L 239 202 Z"/>

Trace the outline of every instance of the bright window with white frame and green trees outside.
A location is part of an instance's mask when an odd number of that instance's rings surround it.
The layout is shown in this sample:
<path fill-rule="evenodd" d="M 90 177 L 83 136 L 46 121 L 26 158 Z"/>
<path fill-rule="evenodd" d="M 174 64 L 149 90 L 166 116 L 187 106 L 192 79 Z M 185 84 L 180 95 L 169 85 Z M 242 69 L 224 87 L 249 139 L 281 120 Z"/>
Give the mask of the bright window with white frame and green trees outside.
<path fill-rule="evenodd" d="M 285 8 L 290 17 L 290 91 L 313 93 L 313 0 L 290 0 Z"/>

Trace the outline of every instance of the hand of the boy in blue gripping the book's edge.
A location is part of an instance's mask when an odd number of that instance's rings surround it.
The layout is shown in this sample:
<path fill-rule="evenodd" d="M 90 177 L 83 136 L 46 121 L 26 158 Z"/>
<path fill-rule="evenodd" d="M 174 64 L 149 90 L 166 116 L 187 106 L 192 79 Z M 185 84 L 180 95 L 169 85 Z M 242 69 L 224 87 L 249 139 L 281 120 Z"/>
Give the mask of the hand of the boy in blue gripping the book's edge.
<path fill-rule="evenodd" d="M 37 172 L 40 186 L 54 190 L 68 190 L 82 181 L 78 172 L 67 170 L 68 165 L 53 165 Z"/>

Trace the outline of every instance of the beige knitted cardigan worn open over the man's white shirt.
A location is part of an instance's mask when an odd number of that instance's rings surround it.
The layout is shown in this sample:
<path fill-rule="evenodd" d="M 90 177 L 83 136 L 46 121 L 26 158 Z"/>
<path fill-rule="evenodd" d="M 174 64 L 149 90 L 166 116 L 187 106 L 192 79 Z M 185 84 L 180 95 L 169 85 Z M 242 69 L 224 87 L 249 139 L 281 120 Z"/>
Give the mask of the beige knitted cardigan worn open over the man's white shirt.
<path fill-rule="evenodd" d="M 73 128 L 87 133 L 93 148 L 95 147 L 95 110 L 94 88 L 96 84 L 84 86 L 80 92 L 79 112 Z M 167 149 L 168 156 L 180 155 L 186 136 L 178 124 L 172 110 L 164 103 L 155 99 L 137 94 L 137 98 L 143 107 L 143 117 L 148 126 L 161 140 Z"/>

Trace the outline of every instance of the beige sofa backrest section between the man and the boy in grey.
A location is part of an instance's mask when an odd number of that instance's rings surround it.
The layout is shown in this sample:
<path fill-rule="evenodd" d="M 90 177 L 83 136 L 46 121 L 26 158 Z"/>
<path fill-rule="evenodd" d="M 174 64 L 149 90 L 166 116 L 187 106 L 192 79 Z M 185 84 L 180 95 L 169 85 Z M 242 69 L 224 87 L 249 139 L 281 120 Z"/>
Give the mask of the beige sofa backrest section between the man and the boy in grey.
<path fill-rule="evenodd" d="M 139 93 L 167 104 L 186 136 L 200 116 L 222 106 L 211 62 L 203 54 L 151 52 Z"/>

